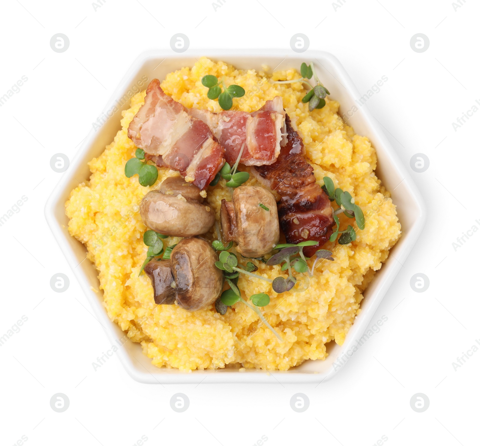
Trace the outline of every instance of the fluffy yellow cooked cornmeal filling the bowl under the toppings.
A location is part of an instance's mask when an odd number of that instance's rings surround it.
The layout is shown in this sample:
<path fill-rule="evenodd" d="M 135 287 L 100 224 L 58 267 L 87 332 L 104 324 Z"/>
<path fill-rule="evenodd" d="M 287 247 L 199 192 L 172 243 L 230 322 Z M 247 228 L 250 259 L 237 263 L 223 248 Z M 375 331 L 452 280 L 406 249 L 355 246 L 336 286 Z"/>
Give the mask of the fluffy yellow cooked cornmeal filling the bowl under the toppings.
<path fill-rule="evenodd" d="M 245 89 L 245 96 L 234 99 L 233 109 L 252 112 L 280 95 L 294 129 L 303 139 L 317 183 L 323 185 L 322 178 L 329 176 L 336 188 L 350 192 L 363 210 L 365 229 L 357 230 L 357 239 L 348 245 L 336 242 L 323 246 L 332 251 L 334 260 L 318 261 L 312 278 L 295 273 L 298 281 L 290 292 L 276 294 L 268 282 L 240 274 L 238 286 L 244 299 L 255 293 L 269 294 L 270 304 L 261 310 L 284 342 L 242 303 L 233 305 L 223 316 L 214 305 L 195 312 L 177 305 L 156 305 L 149 278 L 144 273 L 138 275 L 147 252 L 143 243 L 147 228 L 140 218 L 139 204 L 166 177 L 179 174 L 160 168 L 152 187 L 141 186 L 138 176 L 125 176 L 125 163 L 136 149 L 127 128 L 144 103 L 145 92 L 135 94 L 131 108 L 122 112 L 122 129 L 89 163 L 90 181 L 72 190 L 65 206 L 70 234 L 85 244 L 87 257 L 98 270 L 108 316 L 132 341 L 141 343 L 144 353 L 158 367 L 287 370 L 307 359 L 325 359 L 325 344 L 344 342 L 360 312 L 362 292 L 400 236 L 396 207 L 375 176 L 377 159 L 368 139 L 356 135 L 342 121 L 335 100 L 327 97 L 324 108 L 309 112 L 308 103 L 301 102 L 306 93 L 301 83 L 269 82 L 298 79 L 296 70 L 273 74 L 267 70 L 237 70 L 202 58 L 192 68 L 169 73 L 161 87 L 186 107 L 213 112 L 222 110 L 217 101 L 207 98 L 207 89 L 201 83 L 205 74 L 225 77 L 227 85 L 238 84 Z M 260 185 L 252 175 L 245 184 Z M 217 221 L 221 200 L 231 200 L 231 195 L 232 189 L 223 179 L 208 188 L 206 200 L 216 211 Z M 351 222 L 341 214 L 340 229 L 355 224 Z M 211 231 L 216 236 L 215 226 Z M 168 237 L 165 246 L 179 240 Z M 271 279 L 280 274 L 287 277 L 279 265 L 253 262 L 258 267 L 256 274 Z M 313 259 L 308 263 L 312 267 Z"/>

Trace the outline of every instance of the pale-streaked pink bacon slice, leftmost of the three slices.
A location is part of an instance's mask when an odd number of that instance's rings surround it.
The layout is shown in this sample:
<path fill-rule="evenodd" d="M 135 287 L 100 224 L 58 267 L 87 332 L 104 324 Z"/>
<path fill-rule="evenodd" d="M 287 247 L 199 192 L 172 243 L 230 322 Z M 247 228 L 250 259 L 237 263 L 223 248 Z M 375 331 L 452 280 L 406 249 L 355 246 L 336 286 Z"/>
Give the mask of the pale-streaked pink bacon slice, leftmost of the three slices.
<path fill-rule="evenodd" d="M 180 172 L 204 190 L 224 164 L 224 149 L 208 126 L 165 94 L 160 81 L 148 85 L 145 103 L 133 117 L 128 137 L 159 167 Z"/>

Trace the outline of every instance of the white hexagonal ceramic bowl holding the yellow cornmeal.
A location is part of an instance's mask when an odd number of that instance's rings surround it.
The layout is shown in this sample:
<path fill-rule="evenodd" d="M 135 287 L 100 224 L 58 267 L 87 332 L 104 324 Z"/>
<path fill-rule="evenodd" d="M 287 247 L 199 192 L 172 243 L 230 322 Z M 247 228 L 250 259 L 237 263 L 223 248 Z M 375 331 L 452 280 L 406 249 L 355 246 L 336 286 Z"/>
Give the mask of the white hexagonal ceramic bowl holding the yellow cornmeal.
<path fill-rule="evenodd" d="M 290 51 L 284 50 L 189 50 L 183 54 L 173 54 L 170 50 L 158 50 L 146 52 L 135 60 L 103 112 L 109 116 L 110 111 L 118 106 L 120 98 L 125 94 L 128 97 L 128 91 L 142 76 L 147 76 L 148 81 L 154 78 L 162 80 L 170 71 L 178 70 L 183 66 L 192 66 L 201 56 L 222 60 L 240 69 L 253 68 L 256 70 L 260 70 L 265 64 L 276 70 L 291 67 L 298 69 L 301 62 L 313 60 L 319 77 L 330 90 L 331 97 L 341 104 L 342 115 L 357 106 L 355 99 L 360 97 L 357 88 L 340 62 L 331 54 L 322 51 L 291 54 Z M 118 344 L 116 340 L 124 338 L 125 334 L 117 324 L 108 318 L 102 305 L 102 293 L 93 291 L 93 288 L 99 289 L 97 271 L 89 261 L 82 262 L 86 249 L 68 233 L 68 219 L 65 215 L 64 205 L 71 190 L 80 181 L 88 180 L 90 171 L 87 162 L 99 156 L 105 146 L 113 141 L 115 134 L 120 129 L 121 110 L 127 109 L 129 106 L 130 101 L 126 101 L 121 109 L 111 115 L 100 129 L 90 131 L 45 206 L 45 216 L 53 235 L 92 305 L 97 319 L 105 327 L 108 339 L 115 345 Z M 352 355 L 354 347 L 367 329 L 375 310 L 400 270 L 401 264 L 405 262 L 420 236 L 427 217 L 420 192 L 366 106 L 360 107 L 351 117 L 347 116 L 347 122 L 355 129 L 356 133 L 367 136 L 377 151 L 376 175 L 392 192 L 392 199 L 397 206 L 398 219 L 402 225 L 402 236 L 391 251 L 393 255 L 387 258 L 365 291 L 361 303 L 362 311 L 349 330 L 344 344 L 339 346 L 330 342 L 331 345 L 327 347 L 329 355 L 326 360 L 306 361 L 288 371 L 270 372 L 276 378 L 272 379 L 272 376 L 260 370 L 239 372 L 235 369 L 218 369 L 185 373 L 176 369 L 158 368 L 152 365 L 150 359 L 142 353 L 140 344 L 128 341 L 119 349 L 118 355 L 125 370 L 133 379 L 152 384 L 199 383 L 203 380 L 205 383 L 272 383 L 277 381 L 316 383 L 336 375 L 340 368 L 337 364 L 343 365 Z"/>

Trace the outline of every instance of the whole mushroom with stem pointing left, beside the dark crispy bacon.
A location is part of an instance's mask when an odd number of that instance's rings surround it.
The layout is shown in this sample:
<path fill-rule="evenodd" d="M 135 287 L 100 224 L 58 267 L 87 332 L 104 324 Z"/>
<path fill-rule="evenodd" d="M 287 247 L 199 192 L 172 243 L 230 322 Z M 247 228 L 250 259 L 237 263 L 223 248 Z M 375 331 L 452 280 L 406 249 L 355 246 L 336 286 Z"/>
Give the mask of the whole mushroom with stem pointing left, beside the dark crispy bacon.
<path fill-rule="evenodd" d="M 275 198 L 258 186 L 235 188 L 232 201 L 222 200 L 220 221 L 225 240 L 237 242 L 244 257 L 263 256 L 280 237 Z"/>

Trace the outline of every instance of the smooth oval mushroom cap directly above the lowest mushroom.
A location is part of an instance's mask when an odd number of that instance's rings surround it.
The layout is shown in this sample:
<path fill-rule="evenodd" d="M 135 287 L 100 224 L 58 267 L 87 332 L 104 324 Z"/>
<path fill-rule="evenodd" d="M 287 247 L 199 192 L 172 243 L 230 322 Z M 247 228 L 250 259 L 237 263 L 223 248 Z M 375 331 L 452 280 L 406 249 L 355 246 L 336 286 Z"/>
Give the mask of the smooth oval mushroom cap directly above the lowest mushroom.
<path fill-rule="evenodd" d="M 208 206 L 158 190 L 151 190 L 144 196 L 140 215 L 145 226 L 175 237 L 205 234 L 215 223 L 215 213 Z"/>

